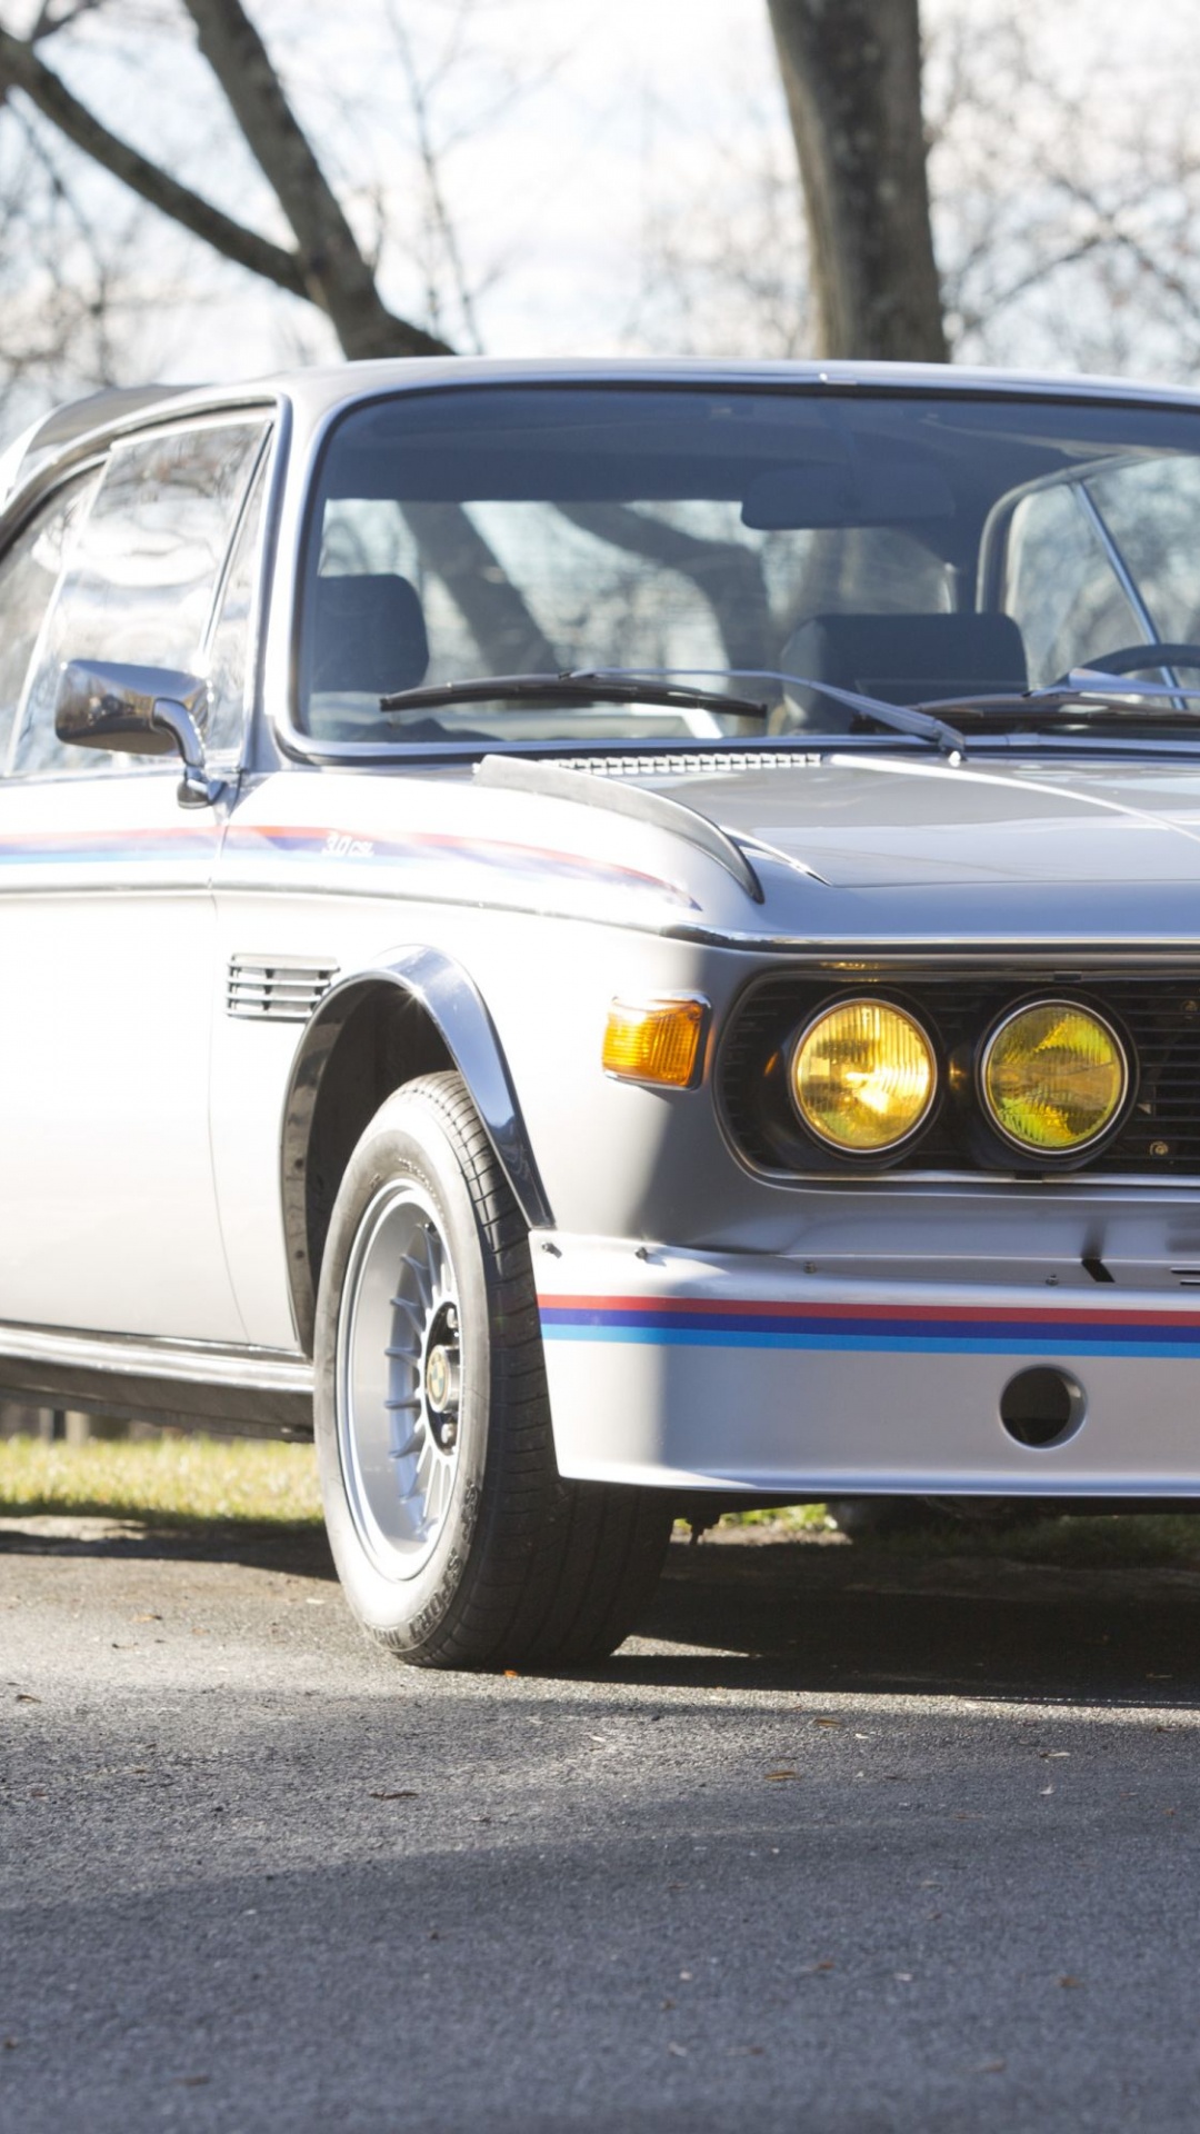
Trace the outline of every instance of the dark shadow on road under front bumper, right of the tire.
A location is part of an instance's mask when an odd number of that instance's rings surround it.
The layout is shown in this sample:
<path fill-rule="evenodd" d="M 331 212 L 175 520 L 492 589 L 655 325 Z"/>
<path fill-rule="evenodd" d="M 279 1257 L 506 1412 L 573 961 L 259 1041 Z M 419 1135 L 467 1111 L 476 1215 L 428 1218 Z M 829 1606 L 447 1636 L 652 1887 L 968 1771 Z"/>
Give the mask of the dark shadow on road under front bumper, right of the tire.
<path fill-rule="evenodd" d="M 647 1652 L 647 1641 L 668 1652 Z M 679 1650 L 683 1647 L 683 1650 Z M 626 1682 L 1191 1705 L 1200 1573 L 675 1543 Z"/>

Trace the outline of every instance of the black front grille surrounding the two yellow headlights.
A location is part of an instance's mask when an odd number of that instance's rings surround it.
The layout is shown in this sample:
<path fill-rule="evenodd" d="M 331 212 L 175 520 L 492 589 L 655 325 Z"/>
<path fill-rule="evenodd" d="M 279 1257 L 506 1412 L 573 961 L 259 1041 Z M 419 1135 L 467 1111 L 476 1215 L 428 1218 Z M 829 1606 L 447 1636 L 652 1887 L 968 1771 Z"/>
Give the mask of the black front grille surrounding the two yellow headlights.
<path fill-rule="evenodd" d="M 790 1039 L 824 1005 L 863 994 L 907 1007 L 937 1050 L 935 1110 L 886 1169 L 1200 1174 L 1200 956 L 1151 973 L 1078 962 L 931 971 L 880 960 L 762 980 L 735 1007 L 717 1065 L 726 1125 L 758 1169 L 860 1176 L 882 1167 L 878 1157 L 865 1165 L 822 1148 L 805 1133 L 788 1097 Z M 976 1061 L 986 1035 L 1001 1016 L 1036 999 L 1070 999 L 1098 1009 L 1130 1054 L 1132 1090 L 1115 1131 L 1070 1161 L 1019 1154 L 989 1127 L 976 1095 Z"/>

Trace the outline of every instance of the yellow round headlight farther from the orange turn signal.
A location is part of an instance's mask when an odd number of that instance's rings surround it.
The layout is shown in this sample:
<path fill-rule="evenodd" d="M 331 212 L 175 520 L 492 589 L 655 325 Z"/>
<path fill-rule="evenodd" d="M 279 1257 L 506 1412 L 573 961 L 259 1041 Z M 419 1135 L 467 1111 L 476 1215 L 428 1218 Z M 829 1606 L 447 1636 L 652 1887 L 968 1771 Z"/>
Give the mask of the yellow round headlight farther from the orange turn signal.
<path fill-rule="evenodd" d="M 1076 1001 L 1019 1007 L 986 1041 L 980 1065 L 993 1127 L 1019 1148 L 1070 1154 L 1112 1125 L 1130 1063 L 1102 1016 Z"/>

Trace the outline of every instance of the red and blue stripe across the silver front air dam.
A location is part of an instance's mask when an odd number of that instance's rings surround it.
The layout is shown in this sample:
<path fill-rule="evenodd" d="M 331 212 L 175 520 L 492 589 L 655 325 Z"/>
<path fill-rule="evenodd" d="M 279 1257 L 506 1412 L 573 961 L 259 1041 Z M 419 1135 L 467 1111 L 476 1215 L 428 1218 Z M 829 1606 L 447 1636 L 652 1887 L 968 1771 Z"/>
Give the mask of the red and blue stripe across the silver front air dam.
<path fill-rule="evenodd" d="M 886 1355 L 1200 1357 L 1200 1312 L 752 1297 L 542 1297 L 547 1340 Z"/>

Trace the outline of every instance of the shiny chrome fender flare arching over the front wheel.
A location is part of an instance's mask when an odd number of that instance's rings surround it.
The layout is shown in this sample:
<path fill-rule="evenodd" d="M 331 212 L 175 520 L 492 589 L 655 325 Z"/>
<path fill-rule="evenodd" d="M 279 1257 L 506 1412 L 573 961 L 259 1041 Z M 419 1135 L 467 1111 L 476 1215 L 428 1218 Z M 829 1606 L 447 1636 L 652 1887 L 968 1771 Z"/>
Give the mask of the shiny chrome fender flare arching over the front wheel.
<path fill-rule="evenodd" d="M 395 986 L 416 1001 L 459 1069 L 530 1229 L 553 1229 L 525 1120 L 495 1024 L 474 980 L 436 947 L 389 950 L 329 988 L 293 1061 L 280 1133 L 280 1201 L 293 1319 L 310 1347 L 316 1283 L 307 1236 L 307 1148 L 320 1082 L 346 1022 L 372 988 Z"/>

